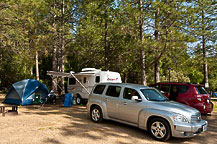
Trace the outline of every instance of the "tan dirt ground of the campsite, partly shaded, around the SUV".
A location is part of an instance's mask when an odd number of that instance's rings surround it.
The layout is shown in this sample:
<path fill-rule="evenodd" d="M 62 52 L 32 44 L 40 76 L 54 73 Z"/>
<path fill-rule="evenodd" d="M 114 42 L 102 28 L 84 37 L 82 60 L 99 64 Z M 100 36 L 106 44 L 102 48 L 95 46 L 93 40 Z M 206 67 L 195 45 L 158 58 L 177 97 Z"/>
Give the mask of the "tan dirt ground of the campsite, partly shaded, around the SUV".
<path fill-rule="evenodd" d="M 4 95 L 0 95 L 0 102 Z M 0 104 L 2 105 L 2 104 Z M 16 116 L 0 114 L 0 143 L 3 144 L 145 144 L 163 143 L 136 127 L 113 121 L 93 123 L 85 106 L 19 106 Z M 166 143 L 217 143 L 217 109 L 208 121 L 208 130 L 190 139 L 171 138 Z"/>

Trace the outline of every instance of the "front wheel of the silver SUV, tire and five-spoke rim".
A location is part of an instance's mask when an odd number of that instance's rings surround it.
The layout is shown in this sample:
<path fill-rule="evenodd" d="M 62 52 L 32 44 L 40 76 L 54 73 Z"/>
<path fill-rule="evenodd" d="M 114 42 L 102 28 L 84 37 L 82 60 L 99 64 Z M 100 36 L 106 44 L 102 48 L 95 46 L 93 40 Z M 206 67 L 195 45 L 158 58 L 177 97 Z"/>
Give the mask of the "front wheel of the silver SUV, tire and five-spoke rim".
<path fill-rule="evenodd" d="M 167 141 L 171 137 L 168 122 L 162 118 L 154 118 L 148 124 L 148 131 L 152 138 L 158 141 Z"/>

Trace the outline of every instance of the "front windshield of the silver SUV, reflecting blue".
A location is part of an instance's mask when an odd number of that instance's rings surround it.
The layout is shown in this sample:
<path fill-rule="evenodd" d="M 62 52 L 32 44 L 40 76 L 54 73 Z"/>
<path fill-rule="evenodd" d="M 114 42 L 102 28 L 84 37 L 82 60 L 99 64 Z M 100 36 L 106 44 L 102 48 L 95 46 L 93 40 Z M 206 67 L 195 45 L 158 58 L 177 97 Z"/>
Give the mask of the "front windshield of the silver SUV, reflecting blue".
<path fill-rule="evenodd" d="M 148 101 L 167 101 L 168 99 L 155 89 L 140 90 Z"/>

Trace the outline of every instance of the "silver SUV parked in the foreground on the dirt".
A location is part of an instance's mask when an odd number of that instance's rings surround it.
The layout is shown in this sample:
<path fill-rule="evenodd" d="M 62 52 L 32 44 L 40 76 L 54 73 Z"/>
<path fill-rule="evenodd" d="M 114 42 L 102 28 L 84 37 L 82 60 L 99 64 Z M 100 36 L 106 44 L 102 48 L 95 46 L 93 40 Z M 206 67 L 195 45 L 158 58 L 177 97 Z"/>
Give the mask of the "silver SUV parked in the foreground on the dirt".
<path fill-rule="evenodd" d="M 87 103 L 94 122 L 118 121 L 147 130 L 159 141 L 193 137 L 207 130 L 207 121 L 189 106 L 169 101 L 157 89 L 135 84 L 95 85 Z"/>

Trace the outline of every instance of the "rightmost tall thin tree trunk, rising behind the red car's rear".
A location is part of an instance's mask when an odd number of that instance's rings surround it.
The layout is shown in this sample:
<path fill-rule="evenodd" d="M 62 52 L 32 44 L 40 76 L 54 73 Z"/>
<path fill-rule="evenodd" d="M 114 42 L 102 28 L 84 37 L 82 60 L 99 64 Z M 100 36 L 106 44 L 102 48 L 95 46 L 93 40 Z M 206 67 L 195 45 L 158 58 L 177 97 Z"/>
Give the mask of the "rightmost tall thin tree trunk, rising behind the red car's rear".
<path fill-rule="evenodd" d="M 205 21 L 204 10 L 202 10 L 202 48 L 203 48 L 203 68 L 204 68 L 204 85 L 205 88 L 209 88 L 208 84 L 208 64 L 206 59 L 206 38 L 205 38 Z"/>

